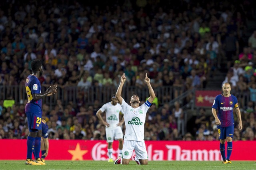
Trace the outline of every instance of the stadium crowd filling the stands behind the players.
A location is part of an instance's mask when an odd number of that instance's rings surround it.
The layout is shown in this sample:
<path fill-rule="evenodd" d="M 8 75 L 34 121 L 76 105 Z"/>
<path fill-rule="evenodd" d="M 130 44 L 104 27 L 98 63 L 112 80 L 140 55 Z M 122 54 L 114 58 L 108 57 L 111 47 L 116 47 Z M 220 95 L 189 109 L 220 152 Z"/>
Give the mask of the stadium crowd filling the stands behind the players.
<path fill-rule="evenodd" d="M 129 85 L 140 87 L 140 75 L 148 71 L 152 86 L 186 91 L 205 88 L 225 59 L 230 68 L 225 81 L 232 82 L 236 91 L 256 91 L 256 32 L 248 42 L 243 39 L 246 21 L 255 15 L 254 1 L 108 3 L 1 2 L 0 86 L 23 86 L 31 61 L 40 59 L 43 87 L 117 86 L 123 72 Z M 180 91 L 174 98 L 178 95 Z M 26 138 L 26 99 L 10 107 L 4 107 L 4 102 L 0 100 L 0 139 Z M 244 130 L 235 128 L 234 140 L 256 139 L 256 96 L 247 102 L 241 103 Z M 105 127 L 95 115 L 101 107 L 97 101 L 94 105 L 83 100 L 56 103 L 52 109 L 42 106 L 50 139 L 106 139 Z M 188 133 L 180 103 L 153 104 L 148 112 L 145 140 L 218 140 L 214 117 L 204 109 Z"/>

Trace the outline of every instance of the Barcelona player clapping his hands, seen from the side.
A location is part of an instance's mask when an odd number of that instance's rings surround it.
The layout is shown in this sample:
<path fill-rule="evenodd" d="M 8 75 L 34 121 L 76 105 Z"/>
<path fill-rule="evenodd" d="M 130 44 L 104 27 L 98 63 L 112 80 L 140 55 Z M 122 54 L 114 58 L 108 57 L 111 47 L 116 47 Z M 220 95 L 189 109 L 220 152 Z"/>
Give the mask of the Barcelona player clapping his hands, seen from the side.
<path fill-rule="evenodd" d="M 53 95 L 57 92 L 57 86 L 50 86 L 44 93 L 41 93 L 41 84 L 38 79 L 43 75 L 43 66 L 39 59 L 31 62 L 32 74 L 26 79 L 26 93 L 28 103 L 25 106 L 25 113 L 28 118 L 28 139 L 26 165 L 45 165 L 40 160 L 41 136 L 42 136 L 42 98 Z M 36 160 L 32 160 L 32 152 L 35 152 Z"/>

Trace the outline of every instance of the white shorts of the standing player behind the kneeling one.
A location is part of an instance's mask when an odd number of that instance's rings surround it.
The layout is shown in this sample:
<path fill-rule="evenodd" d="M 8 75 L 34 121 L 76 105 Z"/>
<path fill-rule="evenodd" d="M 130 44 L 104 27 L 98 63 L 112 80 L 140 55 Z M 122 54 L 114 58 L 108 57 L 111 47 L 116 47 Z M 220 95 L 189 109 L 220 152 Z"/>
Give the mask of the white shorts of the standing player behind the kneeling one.
<path fill-rule="evenodd" d="M 115 128 L 106 127 L 106 138 L 108 143 L 113 142 L 114 139 L 122 139 L 123 137 L 124 134 L 120 126 Z"/>

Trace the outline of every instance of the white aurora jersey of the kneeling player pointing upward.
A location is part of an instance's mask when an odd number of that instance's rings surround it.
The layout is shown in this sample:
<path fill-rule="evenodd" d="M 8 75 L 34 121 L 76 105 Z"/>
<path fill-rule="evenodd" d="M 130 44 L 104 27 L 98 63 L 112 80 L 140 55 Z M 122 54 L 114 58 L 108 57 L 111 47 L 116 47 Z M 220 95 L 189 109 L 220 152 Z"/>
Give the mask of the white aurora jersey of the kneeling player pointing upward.
<path fill-rule="evenodd" d="M 124 111 L 124 140 L 144 141 L 144 124 L 146 121 L 146 113 L 150 105 L 151 103 L 146 101 L 140 107 L 133 108 L 123 99 L 121 106 Z"/>

